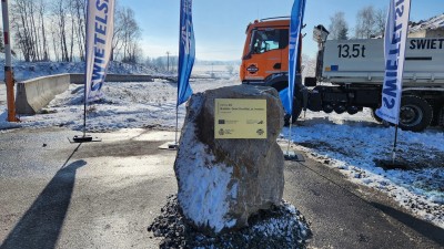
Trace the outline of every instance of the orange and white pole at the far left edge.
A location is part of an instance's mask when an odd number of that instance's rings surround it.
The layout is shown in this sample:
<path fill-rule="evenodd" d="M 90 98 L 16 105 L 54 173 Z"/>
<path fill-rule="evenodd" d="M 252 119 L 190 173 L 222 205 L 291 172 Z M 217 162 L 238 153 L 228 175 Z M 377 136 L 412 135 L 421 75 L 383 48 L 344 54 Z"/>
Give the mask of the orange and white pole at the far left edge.
<path fill-rule="evenodd" d="M 3 39 L 4 39 L 4 83 L 7 84 L 7 103 L 8 103 L 8 121 L 18 122 L 16 117 L 16 101 L 14 101 L 14 81 L 11 63 L 11 39 L 9 35 L 9 12 L 8 0 L 1 0 L 1 10 L 3 17 Z"/>

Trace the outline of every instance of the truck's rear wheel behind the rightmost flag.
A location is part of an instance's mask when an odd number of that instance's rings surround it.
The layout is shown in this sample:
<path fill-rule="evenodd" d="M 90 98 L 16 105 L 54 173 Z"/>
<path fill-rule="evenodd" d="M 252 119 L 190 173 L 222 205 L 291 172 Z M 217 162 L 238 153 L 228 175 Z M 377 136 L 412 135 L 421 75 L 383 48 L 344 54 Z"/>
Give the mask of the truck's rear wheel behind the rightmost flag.
<path fill-rule="evenodd" d="M 433 120 L 432 106 L 420 96 L 403 96 L 400 110 L 400 127 L 404 131 L 424 131 Z"/>

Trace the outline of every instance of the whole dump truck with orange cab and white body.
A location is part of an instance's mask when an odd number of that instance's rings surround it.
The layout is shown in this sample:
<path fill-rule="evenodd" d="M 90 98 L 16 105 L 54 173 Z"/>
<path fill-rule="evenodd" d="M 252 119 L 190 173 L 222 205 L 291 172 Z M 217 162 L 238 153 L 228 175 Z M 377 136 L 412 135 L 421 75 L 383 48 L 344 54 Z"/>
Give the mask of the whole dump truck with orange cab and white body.
<path fill-rule="evenodd" d="M 278 91 L 287 86 L 289 28 L 289 18 L 264 19 L 248 25 L 240 69 L 243 84 Z M 385 73 L 383 39 L 327 40 L 327 35 L 324 27 L 314 28 L 313 39 L 319 44 L 315 76 L 303 80 L 297 66 L 292 122 L 304 108 L 353 115 L 364 107 L 372 108 L 373 116 L 381 122 L 374 111 L 381 106 Z M 444 38 L 407 39 L 400 110 L 402 129 L 420 132 L 444 124 L 443 65 Z"/>

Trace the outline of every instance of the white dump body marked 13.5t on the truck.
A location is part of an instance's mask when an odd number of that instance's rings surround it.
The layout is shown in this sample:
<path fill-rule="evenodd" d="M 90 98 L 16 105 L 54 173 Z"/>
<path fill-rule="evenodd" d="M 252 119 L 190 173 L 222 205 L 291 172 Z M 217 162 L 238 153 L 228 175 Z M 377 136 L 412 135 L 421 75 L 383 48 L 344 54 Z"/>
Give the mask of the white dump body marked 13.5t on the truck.
<path fill-rule="evenodd" d="M 329 40 L 322 79 L 332 83 L 381 84 L 384 40 Z M 407 39 L 404 86 L 444 86 L 444 38 Z"/>

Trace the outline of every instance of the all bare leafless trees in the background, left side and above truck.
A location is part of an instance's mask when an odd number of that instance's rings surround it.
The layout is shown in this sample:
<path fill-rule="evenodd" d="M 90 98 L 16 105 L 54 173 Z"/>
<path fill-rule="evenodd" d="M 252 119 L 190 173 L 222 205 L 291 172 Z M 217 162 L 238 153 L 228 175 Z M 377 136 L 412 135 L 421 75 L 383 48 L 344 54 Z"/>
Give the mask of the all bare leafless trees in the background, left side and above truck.
<path fill-rule="evenodd" d="M 27 62 L 84 61 L 87 4 L 84 0 L 11 0 L 11 35 L 13 50 Z M 356 13 L 354 29 L 350 29 L 345 13 L 335 12 L 329 27 L 329 39 L 369 39 L 382 37 L 385 29 L 385 9 L 364 7 Z M 354 35 L 351 35 L 351 30 Z M 176 58 L 143 59 L 139 41 L 141 28 L 134 11 L 115 6 L 112 61 L 144 63 L 174 71 Z M 0 33 L 1 38 L 2 33 Z M 0 39 L 0 51 L 4 48 Z"/>

